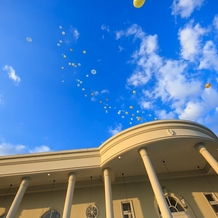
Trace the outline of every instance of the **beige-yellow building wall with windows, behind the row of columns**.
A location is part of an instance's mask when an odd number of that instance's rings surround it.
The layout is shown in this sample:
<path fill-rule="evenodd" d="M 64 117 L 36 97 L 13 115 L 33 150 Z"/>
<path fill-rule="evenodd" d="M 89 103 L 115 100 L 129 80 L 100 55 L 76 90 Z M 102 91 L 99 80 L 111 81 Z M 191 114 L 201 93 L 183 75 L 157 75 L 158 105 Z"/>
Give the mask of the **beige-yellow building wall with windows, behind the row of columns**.
<path fill-rule="evenodd" d="M 209 182 L 207 181 L 209 180 Z M 189 205 L 192 218 L 215 218 L 215 214 L 203 196 L 203 192 L 218 192 L 218 177 L 207 176 L 186 179 L 161 180 L 169 193 L 181 194 Z M 25 194 L 15 218 L 39 218 L 47 210 L 56 209 L 63 214 L 65 190 Z M 112 186 L 114 217 L 121 218 L 121 201 L 133 202 L 135 218 L 158 218 L 153 191 L 149 182 L 127 183 L 126 192 L 123 184 Z M 7 196 L 0 205 L 0 215 L 4 208 L 9 208 L 14 196 Z M 3 196 L 0 198 L 2 202 Z M 76 188 L 71 210 L 71 218 L 85 217 L 86 208 L 90 203 L 90 187 Z M 105 218 L 104 186 L 92 187 L 91 203 L 95 203 L 100 211 L 99 218 Z M 193 213 L 192 213 L 193 212 Z"/>

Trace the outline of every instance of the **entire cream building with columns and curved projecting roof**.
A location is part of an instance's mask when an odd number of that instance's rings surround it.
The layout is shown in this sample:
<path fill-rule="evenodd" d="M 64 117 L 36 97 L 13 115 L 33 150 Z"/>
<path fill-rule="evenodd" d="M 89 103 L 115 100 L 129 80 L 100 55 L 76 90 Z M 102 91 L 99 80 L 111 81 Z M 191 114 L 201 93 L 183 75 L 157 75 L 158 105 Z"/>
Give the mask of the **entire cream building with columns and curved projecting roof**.
<path fill-rule="evenodd" d="M 218 138 L 190 121 L 134 126 L 99 148 L 0 159 L 0 217 L 218 217 Z"/>

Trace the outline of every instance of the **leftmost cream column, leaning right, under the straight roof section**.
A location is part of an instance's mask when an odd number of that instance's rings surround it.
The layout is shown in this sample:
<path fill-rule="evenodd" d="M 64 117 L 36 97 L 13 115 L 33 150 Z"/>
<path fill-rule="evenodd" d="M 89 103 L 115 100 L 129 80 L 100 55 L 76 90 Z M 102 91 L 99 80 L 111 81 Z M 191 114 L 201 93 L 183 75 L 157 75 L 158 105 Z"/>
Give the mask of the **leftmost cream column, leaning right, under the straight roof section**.
<path fill-rule="evenodd" d="M 17 212 L 18 207 L 20 206 L 20 202 L 24 196 L 24 193 L 28 187 L 29 184 L 29 178 L 23 178 L 22 182 L 20 184 L 20 188 L 17 191 L 17 194 L 14 198 L 14 201 L 8 211 L 8 214 L 6 216 L 6 218 L 14 218 L 15 214 Z"/>

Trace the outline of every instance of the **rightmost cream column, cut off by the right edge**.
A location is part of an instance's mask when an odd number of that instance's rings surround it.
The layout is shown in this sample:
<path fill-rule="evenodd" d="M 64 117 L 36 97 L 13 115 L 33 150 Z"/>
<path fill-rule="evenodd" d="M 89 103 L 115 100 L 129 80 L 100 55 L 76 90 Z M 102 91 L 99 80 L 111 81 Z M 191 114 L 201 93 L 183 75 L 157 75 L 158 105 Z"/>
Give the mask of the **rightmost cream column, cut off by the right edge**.
<path fill-rule="evenodd" d="M 205 158 L 205 160 L 210 164 L 210 166 L 218 174 L 218 163 L 214 159 L 214 157 L 209 153 L 209 151 L 204 147 L 204 144 L 199 143 L 195 147 L 198 149 L 199 153 Z"/>

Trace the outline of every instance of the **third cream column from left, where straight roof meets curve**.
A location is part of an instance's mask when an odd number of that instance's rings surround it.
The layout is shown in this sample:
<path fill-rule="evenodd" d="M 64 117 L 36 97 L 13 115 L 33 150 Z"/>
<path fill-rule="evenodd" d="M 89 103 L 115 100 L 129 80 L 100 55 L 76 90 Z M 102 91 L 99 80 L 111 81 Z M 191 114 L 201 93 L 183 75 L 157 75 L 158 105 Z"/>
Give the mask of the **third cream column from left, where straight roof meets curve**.
<path fill-rule="evenodd" d="M 109 169 L 104 169 L 103 173 L 104 173 L 106 218 L 114 218 L 110 171 Z"/>

